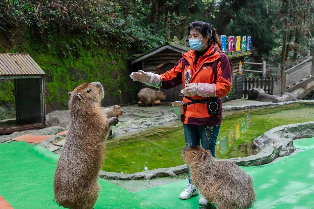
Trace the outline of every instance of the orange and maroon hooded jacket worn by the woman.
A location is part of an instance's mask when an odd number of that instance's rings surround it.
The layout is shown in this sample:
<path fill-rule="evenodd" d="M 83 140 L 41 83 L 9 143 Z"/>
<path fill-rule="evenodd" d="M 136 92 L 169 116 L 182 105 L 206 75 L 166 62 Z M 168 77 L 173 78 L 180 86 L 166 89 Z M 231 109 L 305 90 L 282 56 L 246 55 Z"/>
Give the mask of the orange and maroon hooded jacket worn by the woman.
<path fill-rule="evenodd" d="M 170 71 L 161 74 L 162 85 L 160 88 L 169 89 L 179 86 L 183 83 L 185 88 L 185 71 L 189 68 L 191 72 L 190 83 L 214 83 L 216 86 L 216 97 L 224 97 L 228 95 L 231 89 L 231 62 L 227 55 L 219 50 L 216 43 L 213 43 L 207 52 L 198 58 L 196 66 L 194 66 L 195 51 L 189 50 L 182 54 L 175 67 Z M 195 95 L 193 99 L 202 100 L 209 97 L 200 97 Z M 191 102 L 183 97 L 183 102 Z M 184 115 L 181 121 L 185 124 L 194 125 L 221 125 L 222 118 L 222 102 L 219 100 L 219 113 L 210 115 L 207 111 L 205 103 L 191 104 L 185 107 Z"/>

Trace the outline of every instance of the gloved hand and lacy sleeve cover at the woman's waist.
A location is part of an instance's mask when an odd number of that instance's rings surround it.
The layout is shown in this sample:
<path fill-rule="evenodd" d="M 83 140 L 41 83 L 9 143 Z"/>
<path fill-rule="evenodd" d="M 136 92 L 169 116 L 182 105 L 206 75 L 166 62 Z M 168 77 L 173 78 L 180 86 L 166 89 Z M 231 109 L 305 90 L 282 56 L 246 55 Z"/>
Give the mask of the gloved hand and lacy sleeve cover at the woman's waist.
<path fill-rule="evenodd" d="M 189 83 L 181 93 L 185 96 L 216 97 L 216 86 L 213 83 Z"/>

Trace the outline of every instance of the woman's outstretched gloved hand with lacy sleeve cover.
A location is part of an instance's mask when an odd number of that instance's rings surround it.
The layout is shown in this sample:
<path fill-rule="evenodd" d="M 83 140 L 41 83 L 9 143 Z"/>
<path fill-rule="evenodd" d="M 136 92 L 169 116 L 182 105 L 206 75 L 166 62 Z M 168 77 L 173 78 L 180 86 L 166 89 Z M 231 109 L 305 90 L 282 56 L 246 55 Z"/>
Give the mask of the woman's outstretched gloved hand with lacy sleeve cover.
<path fill-rule="evenodd" d="M 162 84 L 161 76 L 151 72 L 138 70 L 138 73 L 131 73 L 130 78 L 133 81 L 140 81 L 148 86 L 159 88 Z"/>

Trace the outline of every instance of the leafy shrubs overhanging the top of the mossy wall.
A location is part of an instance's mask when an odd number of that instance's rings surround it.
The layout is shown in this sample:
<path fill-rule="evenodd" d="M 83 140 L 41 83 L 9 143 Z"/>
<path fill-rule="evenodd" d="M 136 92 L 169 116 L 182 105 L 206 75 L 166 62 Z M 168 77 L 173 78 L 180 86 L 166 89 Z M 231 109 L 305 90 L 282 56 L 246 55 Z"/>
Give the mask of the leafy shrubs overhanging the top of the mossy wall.
<path fill-rule="evenodd" d="M 93 34 L 99 42 L 103 38 L 110 38 L 110 43 L 117 48 L 134 46 L 149 49 L 164 41 L 160 34 L 151 33 L 150 25 L 143 24 L 141 18 L 125 11 L 119 1 L 0 2 L 0 29 L 7 31 L 27 26 L 42 39 L 51 39 L 51 33 Z M 67 49 L 72 50 L 70 45 Z"/>

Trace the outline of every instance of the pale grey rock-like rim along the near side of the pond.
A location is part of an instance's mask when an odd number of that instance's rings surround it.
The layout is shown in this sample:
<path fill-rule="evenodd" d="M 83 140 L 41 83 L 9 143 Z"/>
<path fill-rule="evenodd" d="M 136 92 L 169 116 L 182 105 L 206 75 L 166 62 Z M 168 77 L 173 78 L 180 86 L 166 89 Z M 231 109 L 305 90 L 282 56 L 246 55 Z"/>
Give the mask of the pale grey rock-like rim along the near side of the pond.
<path fill-rule="evenodd" d="M 314 136 L 314 121 L 306 123 L 293 123 L 278 126 L 265 132 L 254 139 L 253 144 L 259 152 L 242 158 L 224 159 L 234 162 L 239 166 L 263 165 L 272 162 L 277 157 L 287 156 L 295 151 L 293 140 Z M 101 170 L 100 178 L 112 180 L 136 180 L 152 179 L 156 177 L 175 177 L 179 174 L 187 173 L 187 165 L 179 165 L 169 168 L 158 168 L 154 170 L 142 171 L 133 174 L 121 174 L 116 172 L 106 172 Z"/>

